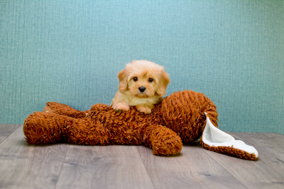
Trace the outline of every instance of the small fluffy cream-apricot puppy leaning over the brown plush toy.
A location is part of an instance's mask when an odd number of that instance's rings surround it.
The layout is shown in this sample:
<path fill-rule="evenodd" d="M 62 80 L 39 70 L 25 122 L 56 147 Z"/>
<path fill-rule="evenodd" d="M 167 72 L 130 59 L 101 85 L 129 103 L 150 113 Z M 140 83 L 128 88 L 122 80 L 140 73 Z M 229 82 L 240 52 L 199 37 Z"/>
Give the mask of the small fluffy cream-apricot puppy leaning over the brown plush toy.
<path fill-rule="evenodd" d="M 118 73 L 119 91 L 112 99 L 116 111 L 128 111 L 129 106 L 146 114 L 151 113 L 154 104 L 161 102 L 170 83 L 169 74 L 163 66 L 147 60 L 133 60 Z"/>

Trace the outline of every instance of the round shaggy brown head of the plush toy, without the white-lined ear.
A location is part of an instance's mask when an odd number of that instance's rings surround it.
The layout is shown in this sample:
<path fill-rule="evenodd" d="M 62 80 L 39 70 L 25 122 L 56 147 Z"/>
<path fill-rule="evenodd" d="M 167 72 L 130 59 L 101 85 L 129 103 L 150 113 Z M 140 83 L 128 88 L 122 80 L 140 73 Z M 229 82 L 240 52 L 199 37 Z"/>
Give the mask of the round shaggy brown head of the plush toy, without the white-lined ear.
<path fill-rule="evenodd" d="M 216 106 L 202 93 L 187 90 L 174 92 L 163 99 L 160 111 L 158 116 L 162 124 L 176 132 L 184 143 L 201 137 L 206 124 L 204 112 L 207 112 L 213 125 L 218 126 Z"/>

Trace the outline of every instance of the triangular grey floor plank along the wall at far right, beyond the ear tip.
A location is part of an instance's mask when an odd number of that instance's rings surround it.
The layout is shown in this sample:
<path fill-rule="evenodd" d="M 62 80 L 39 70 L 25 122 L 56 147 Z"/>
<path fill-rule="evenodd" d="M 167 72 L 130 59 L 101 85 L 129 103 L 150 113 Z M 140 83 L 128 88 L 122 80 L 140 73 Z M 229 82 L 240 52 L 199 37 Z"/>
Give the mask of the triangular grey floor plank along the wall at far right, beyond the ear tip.
<path fill-rule="evenodd" d="M 266 135 L 265 133 L 233 133 L 232 135 L 237 135 L 238 137 L 245 139 L 261 148 L 262 150 L 270 153 L 278 160 L 284 163 L 284 136 L 278 135 L 278 133 L 271 133 Z M 283 137 L 282 137 L 283 136 Z"/>

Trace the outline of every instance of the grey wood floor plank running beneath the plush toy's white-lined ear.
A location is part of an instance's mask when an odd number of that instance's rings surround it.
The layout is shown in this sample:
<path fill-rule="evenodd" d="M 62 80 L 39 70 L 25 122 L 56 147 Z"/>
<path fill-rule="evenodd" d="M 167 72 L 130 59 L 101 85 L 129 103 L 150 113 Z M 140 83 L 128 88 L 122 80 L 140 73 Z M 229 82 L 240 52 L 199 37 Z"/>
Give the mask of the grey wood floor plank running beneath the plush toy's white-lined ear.
<path fill-rule="evenodd" d="M 230 132 L 228 132 L 230 133 Z M 210 155 L 216 162 L 225 168 L 231 175 L 243 183 L 247 188 L 284 188 L 284 164 L 273 155 L 247 142 L 233 133 L 236 140 L 243 140 L 246 144 L 254 146 L 259 153 L 259 159 L 250 161 L 226 154 L 202 150 Z M 200 144 L 198 144 L 201 147 Z"/>

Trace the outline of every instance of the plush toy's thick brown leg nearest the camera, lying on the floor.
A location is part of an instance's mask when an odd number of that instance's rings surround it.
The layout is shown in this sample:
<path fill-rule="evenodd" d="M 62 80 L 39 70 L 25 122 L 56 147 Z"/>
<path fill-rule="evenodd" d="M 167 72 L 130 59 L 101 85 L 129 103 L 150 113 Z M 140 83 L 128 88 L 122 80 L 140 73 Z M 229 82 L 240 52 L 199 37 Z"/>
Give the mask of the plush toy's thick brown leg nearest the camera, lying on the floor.
<path fill-rule="evenodd" d="M 110 144 L 110 133 L 100 123 L 56 113 L 35 112 L 29 115 L 23 131 L 30 144 L 49 144 L 62 139 L 73 144 Z"/>

